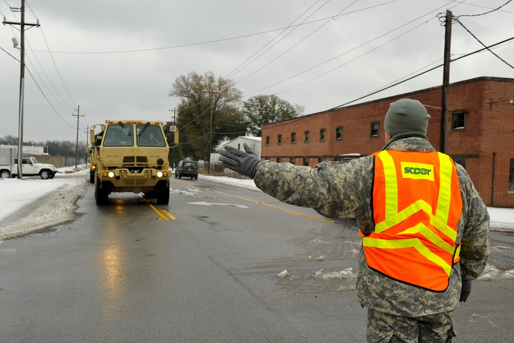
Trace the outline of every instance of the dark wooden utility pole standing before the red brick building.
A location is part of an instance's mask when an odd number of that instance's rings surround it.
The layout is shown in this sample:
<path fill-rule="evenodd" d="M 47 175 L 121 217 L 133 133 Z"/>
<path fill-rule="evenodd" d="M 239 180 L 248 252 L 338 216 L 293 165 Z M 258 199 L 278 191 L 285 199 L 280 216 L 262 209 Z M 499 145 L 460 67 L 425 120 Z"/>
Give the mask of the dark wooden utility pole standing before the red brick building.
<path fill-rule="evenodd" d="M 445 20 L 445 53 L 444 53 L 444 66 L 443 66 L 443 97 L 441 100 L 441 135 L 439 151 L 446 154 L 446 137 L 448 126 L 448 94 L 450 88 L 450 45 L 451 45 L 451 23 L 452 12 L 446 10 Z"/>

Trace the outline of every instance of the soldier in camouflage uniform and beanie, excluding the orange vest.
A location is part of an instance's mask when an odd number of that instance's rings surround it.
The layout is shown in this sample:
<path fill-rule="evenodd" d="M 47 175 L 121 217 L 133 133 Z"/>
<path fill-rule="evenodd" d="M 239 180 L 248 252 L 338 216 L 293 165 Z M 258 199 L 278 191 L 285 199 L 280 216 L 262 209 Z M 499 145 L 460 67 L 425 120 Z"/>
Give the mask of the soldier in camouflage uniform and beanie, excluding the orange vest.
<path fill-rule="evenodd" d="M 433 152 L 426 136 L 428 115 L 416 100 L 391 104 L 384 120 L 387 144 L 382 150 Z M 315 209 L 327 217 L 356 218 L 361 232 L 375 229 L 372 192 L 375 156 L 325 161 L 315 168 L 261 161 L 245 145 L 246 153 L 225 147 L 224 167 L 253 177 L 255 185 L 278 200 Z M 444 292 L 433 292 L 396 281 L 370 268 L 361 246 L 357 295 L 368 308 L 369 342 L 451 342 L 456 336 L 452 313 L 466 301 L 471 280 L 482 273 L 489 256 L 489 214 L 466 170 L 456 165 L 462 197 L 455 244 L 462 243 L 460 262 L 451 267 Z"/>

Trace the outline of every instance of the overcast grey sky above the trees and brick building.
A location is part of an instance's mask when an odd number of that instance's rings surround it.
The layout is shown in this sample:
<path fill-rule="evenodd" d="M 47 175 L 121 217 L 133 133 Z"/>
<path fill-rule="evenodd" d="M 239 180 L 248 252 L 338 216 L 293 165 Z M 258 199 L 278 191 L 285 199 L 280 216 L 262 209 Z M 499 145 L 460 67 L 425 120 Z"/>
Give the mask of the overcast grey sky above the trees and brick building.
<path fill-rule="evenodd" d="M 21 0 L 0 2 L 1 16 L 19 22 L 9 6 Z M 28 0 L 25 21 L 41 27 L 25 32 L 24 141 L 75 140 L 79 106 L 83 141 L 106 119 L 170 120 L 172 84 L 191 71 L 233 79 L 243 100 L 276 94 L 305 114 L 332 109 L 442 64 L 447 9 L 485 45 L 514 37 L 509 0 Z M 19 26 L 0 26 L 0 138 L 19 130 L 13 37 Z M 492 50 L 510 65 L 513 42 Z M 453 23 L 452 58 L 481 48 Z M 508 64 L 475 53 L 451 64 L 450 82 L 514 78 Z M 442 80 L 439 67 L 355 103 Z"/>

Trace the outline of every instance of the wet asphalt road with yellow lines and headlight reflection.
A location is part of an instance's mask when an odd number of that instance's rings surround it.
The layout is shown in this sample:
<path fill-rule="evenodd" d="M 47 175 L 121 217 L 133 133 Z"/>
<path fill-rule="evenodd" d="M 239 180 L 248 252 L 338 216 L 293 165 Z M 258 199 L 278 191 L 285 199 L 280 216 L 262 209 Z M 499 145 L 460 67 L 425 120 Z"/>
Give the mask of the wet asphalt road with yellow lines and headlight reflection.
<path fill-rule="evenodd" d="M 353 221 L 200 179 L 171 188 L 166 206 L 123 193 L 98 207 L 91 186 L 78 220 L 2 242 L 0 341 L 365 341 L 355 281 L 314 277 L 357 273 Z M 491 264 L 514 269 L 513 241 L 493 233 Z M 513 282 L 473 282 L 456 342 L 514 341 Z"/>

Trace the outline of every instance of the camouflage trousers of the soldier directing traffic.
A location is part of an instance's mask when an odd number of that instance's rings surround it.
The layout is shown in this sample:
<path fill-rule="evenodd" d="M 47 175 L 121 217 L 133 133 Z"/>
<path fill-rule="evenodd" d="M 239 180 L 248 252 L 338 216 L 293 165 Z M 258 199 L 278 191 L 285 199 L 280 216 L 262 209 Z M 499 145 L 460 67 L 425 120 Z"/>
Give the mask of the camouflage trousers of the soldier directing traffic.
<path fill-rule="evenodd" d="M 450 343 L 453 311 L 430 316 L 402 317 L 368 309 L 368 343 Z"/>

